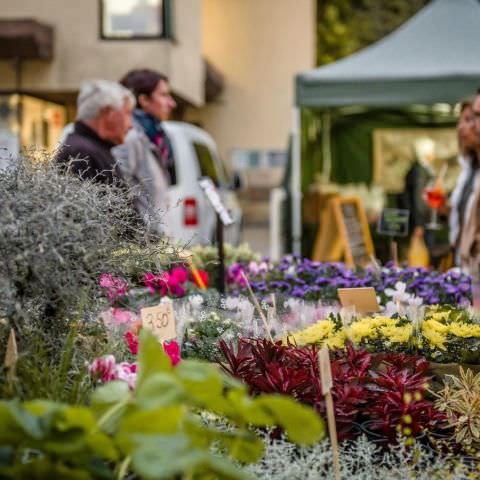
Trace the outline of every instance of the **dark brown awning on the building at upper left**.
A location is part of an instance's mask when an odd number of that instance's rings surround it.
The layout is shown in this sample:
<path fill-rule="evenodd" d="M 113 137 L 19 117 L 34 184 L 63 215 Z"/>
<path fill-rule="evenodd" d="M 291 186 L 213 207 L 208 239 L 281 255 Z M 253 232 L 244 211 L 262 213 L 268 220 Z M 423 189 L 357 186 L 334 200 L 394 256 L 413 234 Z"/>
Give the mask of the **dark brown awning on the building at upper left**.
<path fill-rule="evenodd" d="M 53 28 L 36 20 L 0 20 L 0 58 L 51 60 Z"/>

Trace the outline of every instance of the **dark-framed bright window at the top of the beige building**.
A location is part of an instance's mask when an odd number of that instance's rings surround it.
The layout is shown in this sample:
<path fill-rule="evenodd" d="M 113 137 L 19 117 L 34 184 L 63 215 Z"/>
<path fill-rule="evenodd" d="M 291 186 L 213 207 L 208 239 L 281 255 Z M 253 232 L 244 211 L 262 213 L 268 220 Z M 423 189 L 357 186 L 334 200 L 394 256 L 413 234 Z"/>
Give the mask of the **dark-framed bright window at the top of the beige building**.
<path fill-rule="evenodd" d="M 140 39 L 170 37 L 169 0 L 100 0 L 101 37 Z"/>

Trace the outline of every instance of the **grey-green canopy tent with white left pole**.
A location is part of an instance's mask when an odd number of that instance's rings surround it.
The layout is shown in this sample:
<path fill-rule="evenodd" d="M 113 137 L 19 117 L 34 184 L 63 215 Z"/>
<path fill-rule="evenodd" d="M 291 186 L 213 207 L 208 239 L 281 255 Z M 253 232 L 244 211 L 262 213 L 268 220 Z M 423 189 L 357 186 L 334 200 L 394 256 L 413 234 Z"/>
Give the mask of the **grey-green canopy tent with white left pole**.
<path fill-rule="evenodd" d="M 301 198 L 309 177 L 318 165 L 328 179 L 332 173 L 335 177 L 335 171 L 338 177 L 339 170 L 347 168 L 341 162 L 338 168 L 337 157 L 332 156 L 332 119 L 337 124 L 355 119 L 358 144 L 367 142 L 367 135 L 379 124 L 451 125 L 451 113 L 441 115 L 436 106 L 454 105 L 480 86 L 479 31 L 478 1 L 433 0 L 372 46 L 297 75 L 290 172 L 294 253 L 301 250 Z M 311 158 L 304 155 L 302 139 L 308 143 L 315 123 L 321 148 L 313 150 L 320 161 L 307 165 Z M 371 166 L 364 167 L 357 180 L 371 179 Z"/>

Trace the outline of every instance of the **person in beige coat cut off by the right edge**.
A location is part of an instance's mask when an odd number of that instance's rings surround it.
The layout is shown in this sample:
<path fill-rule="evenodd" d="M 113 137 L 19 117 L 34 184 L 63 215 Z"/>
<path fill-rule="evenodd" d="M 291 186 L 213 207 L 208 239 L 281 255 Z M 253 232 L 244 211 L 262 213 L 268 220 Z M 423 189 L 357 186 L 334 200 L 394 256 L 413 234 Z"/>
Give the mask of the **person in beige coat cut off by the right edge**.
<path fill-rule="evenodd" d="M 462 269 L 474 275 L 476 281 L 478 281 L 480 266 L 480 180 L 477 180 L 477 178 L 478 159 L 480 158 L 480 90 L 473 100 L 472 115 L 475 138 L 472 141 L 473 145 L 469 154 L 471 174 L 464 183 L 459 200 L 465 207 L 461 205 L 458 207 L 459 211 L 461 211 L 460 208 L 464 208 L 464 216 L 460 217 L 463 219 L 463 224 L 459 230 L 457 244 Z M 463 194 L 463 191 L 465 191 L 465 194 Z"/>

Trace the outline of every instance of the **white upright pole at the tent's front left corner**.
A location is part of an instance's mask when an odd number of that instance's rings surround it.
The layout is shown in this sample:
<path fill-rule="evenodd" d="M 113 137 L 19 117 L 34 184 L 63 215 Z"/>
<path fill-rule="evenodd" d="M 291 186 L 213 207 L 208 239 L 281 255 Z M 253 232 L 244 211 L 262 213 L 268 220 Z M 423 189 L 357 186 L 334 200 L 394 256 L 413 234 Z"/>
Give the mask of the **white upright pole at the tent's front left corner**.
<path fill-rule="evenodd" d="M 292 123 L 292 240 L 293 253 L 302 250 L 302 191 L 301 191 L 301 118 L 300 108 L 293 108 Z"/>

